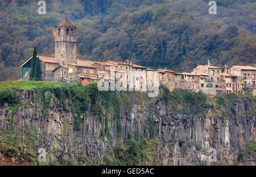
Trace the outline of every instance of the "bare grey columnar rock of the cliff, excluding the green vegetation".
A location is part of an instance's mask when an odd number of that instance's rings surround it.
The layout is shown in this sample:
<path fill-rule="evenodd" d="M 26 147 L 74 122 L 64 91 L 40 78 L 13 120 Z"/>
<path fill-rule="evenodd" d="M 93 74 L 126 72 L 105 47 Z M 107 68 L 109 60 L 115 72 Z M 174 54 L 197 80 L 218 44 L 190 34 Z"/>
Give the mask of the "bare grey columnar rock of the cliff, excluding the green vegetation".
<path fill-rule="evenodd" d="M 158 155 L 154 159 L 159 165 L 198 165 L 200 162 L 213 165 L 214 158 L 218 165 L 234 165 L 238 154 L 245 151 L 249 142 L 256 141 L 255 115 L 248 116 L 255 107 L 251 108 L 246 99 L 232 100 L 234 112 L 218 117 L 218 110 L 212 107 L 185 108 L 167 104 L 162 96 L 143 100 L 129 93 L 130 103 L 122 102 L 121 106 L 121 134 L 118 138 L 117 122 L 110 113 L 108 140 L 100 138 L 103 125 L 90 109 L 82 115 L 82 129 L 74 130 L 75 118 L 71 110 L 63 110 L 59 99 L 51 98 L 48 115 L 43 116 L 42 104 L 36 101 L 35 91 L 22 91 L 19 96 L 20 103 L 28 104 L 21 104 L 15 115 L 2 107 L 0 127 L 8 129 L 11 125 L 5 119 L 13 117 L 14 130 L 35 130 L 39 148 L 46 149 L 47 158 L 86 155 L 92 164 L 100 163 L 119 141 L 127 138 L 130 128 L 133 135 L 138 129 L 139 139 L 152 138 L 150 119 L 154 124 L 154 138 L 158 140 L 155 147 Z M 102 110 L 101 116 L 105 116 L 105 111 Z M 244 154 L 240 159 L 240 165 L 255 165 L 255 162 L 255 151 L 254 155 Z"/>

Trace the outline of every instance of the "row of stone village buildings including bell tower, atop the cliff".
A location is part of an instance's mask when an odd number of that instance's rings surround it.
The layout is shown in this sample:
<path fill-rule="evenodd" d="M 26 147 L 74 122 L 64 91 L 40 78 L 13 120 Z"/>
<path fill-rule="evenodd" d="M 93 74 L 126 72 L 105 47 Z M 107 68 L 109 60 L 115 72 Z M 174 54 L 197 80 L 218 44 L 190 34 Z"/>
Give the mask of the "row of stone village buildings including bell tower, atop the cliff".
<path fill-rule="evenodd" d="M 39 55 L 41 81 L 82 83 L 115 83 L 121 90 L 151 91 L 165 85 L 170 90 L 175 88 L 188 91 L 203 91 L 210 95 L 224 92 L 243 92 L 246 87 L 255 87 L 255 66 L 225 65 L 224 72 L 216 66 L 199 65 L 191 73 L 176 73 L 167 69 L 150 69 L 126 60 L 90 61 L 79 60 L 77 53 L 77 28 L 67 18 L 56 27 L 55 57 Z M 22 79 L 31 80 L 29 71 L 31 58 L 20 64 Z M 32 78 L 39 79 L 39 78 Z"/>

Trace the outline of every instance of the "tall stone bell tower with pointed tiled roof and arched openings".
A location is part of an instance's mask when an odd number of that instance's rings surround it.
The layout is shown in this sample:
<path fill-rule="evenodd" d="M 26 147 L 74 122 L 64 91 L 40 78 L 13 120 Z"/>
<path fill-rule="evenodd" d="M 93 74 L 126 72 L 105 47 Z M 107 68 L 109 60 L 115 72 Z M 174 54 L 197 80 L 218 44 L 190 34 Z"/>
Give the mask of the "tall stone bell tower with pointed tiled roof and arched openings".
<path fill-rule="evenodd" d="M 55 59 L 60 65 L 76 64 L 77 34 L 74 26 L 64 18 L 55 27 Z"/>

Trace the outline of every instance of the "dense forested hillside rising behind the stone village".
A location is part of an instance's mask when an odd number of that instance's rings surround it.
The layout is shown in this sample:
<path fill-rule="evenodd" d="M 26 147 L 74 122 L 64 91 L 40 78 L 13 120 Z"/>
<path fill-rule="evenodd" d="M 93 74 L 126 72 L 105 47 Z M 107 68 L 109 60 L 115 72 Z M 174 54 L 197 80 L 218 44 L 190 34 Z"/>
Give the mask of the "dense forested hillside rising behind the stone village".
<path fill-rule="evenodd" d="M 217 0 L 0 1 L 0 81 L 20 77 L 19 64 L 36 46 L 54 55 L 52 30 L 67 15 L 77 24 L 78 57 L 132 60 L 151 68 L 191 71 L 199 64 L 253 64 L 256 1 Z"/>

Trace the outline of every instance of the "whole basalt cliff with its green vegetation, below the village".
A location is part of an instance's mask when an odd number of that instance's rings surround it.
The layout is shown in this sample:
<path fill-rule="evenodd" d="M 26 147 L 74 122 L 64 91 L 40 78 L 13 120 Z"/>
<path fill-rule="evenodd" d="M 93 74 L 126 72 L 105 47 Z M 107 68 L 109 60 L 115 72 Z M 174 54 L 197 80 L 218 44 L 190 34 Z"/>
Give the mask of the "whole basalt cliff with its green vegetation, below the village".
<path fill-rule="evenodd" d="M 162 87 L 158 97 L 148 98 L 137 91 L 99 92 L 93 84 L 1 89 L 1 154 L 14 161 L 29 158 L 35 165 L 256 163 L 255 96 L 209 96 Z M 6 100 L 6 91 L 13 91 L 16 100 Z M 38 162 L 40 148 L 46 150 L 46 162 Z"/>

